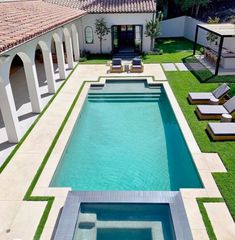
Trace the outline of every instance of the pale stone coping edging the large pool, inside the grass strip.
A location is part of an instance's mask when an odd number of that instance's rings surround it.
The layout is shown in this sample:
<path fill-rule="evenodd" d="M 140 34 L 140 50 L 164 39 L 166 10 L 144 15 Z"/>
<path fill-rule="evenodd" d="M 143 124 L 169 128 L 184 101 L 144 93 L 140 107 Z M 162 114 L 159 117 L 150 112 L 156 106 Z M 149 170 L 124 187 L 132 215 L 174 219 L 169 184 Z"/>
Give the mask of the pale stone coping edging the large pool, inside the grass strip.
<path fill-rule="evenodd" d="M 131 77 L 121 77 L 121 79 L 130 79 Z M 197 239 L 197 236 L 203 236 L 205 239 L 209 239 L 206 228 L 204 225 L 204 222 L 202 220 L 202 216 L 200 214 L 198 205 L 197 205 L 197 198 L 200 197 L 217 197 L 221 198 L 221 194 L 219 192 L 219 189 L 212 177 L 212 172 L 226 172 L 225 167 L 223 166 L 223 163 L 221 159 L 219 158 L 218 154 L 216 153 L 202 153 L 197 145 L 196 140 L 194 139 L 191 129 L 188 126 L 188 123 L 182 113 L 182 110 L 180 109 L 178 102 L 169 86 L 168 82 L 165 81 L 155 81 L 153 77 L 134 77 L 135 80 L 138 79 L 147 79 L 148 83 L 150 84 L 163 84 L 164 88 L 166 90 L 168 99 L 171 103 L 172 109 L 175 113 L 175 116 L 177 118 L 178 124 L 180 125 L 182 134 L 186 140 L 186 143 L 189 147 L 189 150 L 191 152 L 193 161 L 195 163 L 195 166 L 197 168 L 197 171 L 200 175 L 200 178 L 205 186 L 205 188 L 200 189 L 180 189 L 180 194 L 182 196 L 182 200 L 184 202 L 184 206 L 186 209 L 186 215 L 189 220 L 189 225 L 193 234 L 193 238 Z M 117 79 L 117 77 L 100 77 L 99 82 L 104 83 L 105 79 Z M 133 79 L 133 77 L 132 77 Z M 49 214 L 49 226 L 52 226 L 52 224 L 56 222 L 56 218 L 58 216 L 58 210 L 63 207 L 64 201 L 66 199 L 66 196 L 68 192 L 71 190 L 70 188 L 52 188 L 48 187 L 51 179 L 54 175 L 54 172 L 56 170 L 56 167 L 58 166 L 59 160 L 63 154 L 64 148 L 66 147 L 66 143 L 69 140 L 70 134 L 73 130 L 73 126 L 79 117 L 80 110 L 82 109 L 83 103 L 86 99 L 87 92 L 89 90 L 90 84 L 96 84 L 96 82 L 86 82 L 84 84 L 84 87 L 81 91 L 81 94 L 79 96 L 79 100 L 75 104 L 74 110 L 71 113 L 60 137 L 58 138 L 58 141 L 55 145 L 55 148 L 53 149 L 51 156 L 39 178 L 39 181 L 37 182 L 33 192 L 32 196 L 54 196 L 55 201 L 56 197 L 60 198 L 60 201 L 57 203 L 54 203 L 54 211 L 53 213 L 50 212 Z M 173 107 L 174 106 L 174 107 Z M 211 161 L 213 159 L 213 161 Z M 62 198 L 62 199 L 61 199 Z M 192 211 L 192 206 L 195 208 Z M 55 210 L 57 209 L 57 210 Z M 54 215 L 54 217 L 52 217 Z M 54 219 L 54 220 L 53 220 Z M 50 222 L 51 221 L 51 222 Z M 48 225 L 48 223 L 46 223 Z"/>

